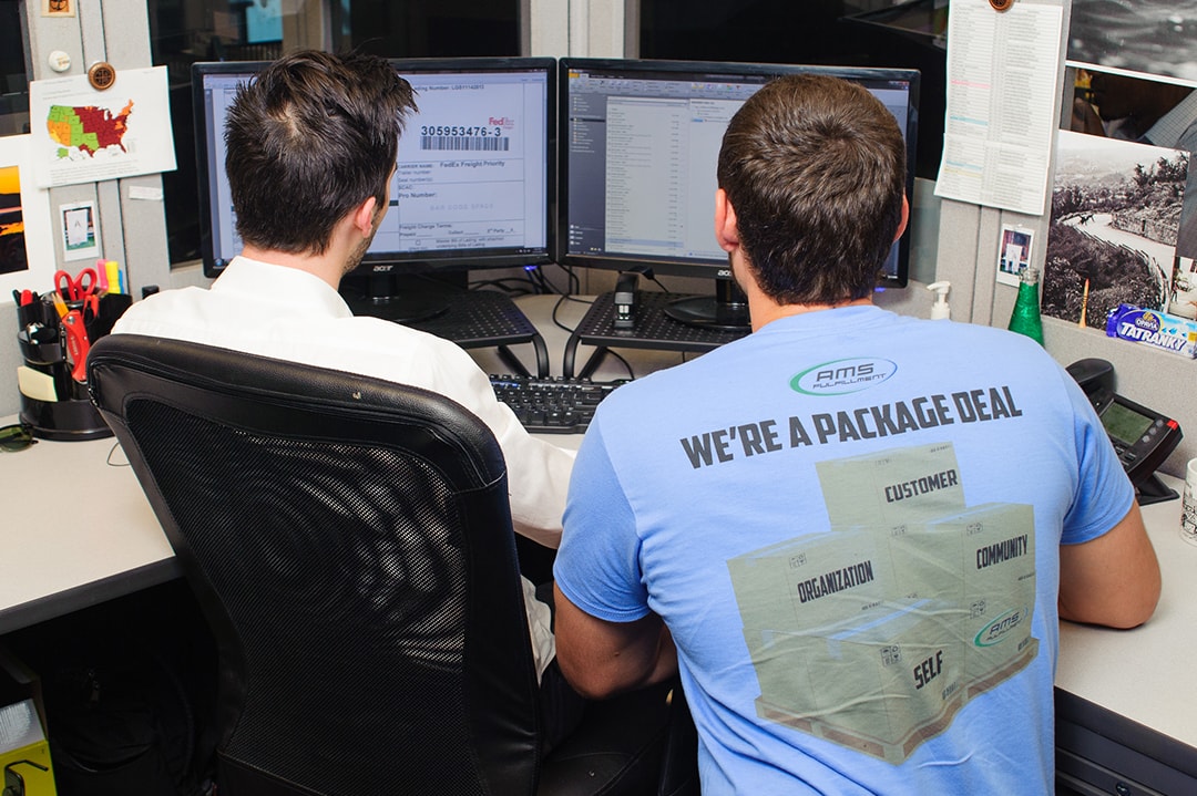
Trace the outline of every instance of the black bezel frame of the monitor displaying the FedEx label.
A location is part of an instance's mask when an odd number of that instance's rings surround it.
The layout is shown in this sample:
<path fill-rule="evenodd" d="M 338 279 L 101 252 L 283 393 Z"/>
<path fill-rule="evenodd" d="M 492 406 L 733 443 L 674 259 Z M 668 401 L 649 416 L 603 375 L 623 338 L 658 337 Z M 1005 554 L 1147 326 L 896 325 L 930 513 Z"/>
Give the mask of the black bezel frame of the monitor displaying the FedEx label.
<path fill-rule="evenodd" d="M 555 259 L 557 246 L 557 165 L 558 165 L 558 67 L 554 57 L 413 57 L 388 59 L 400 75 L 407 72 L 528 72 L 545 74 L 545 247 L 543 250 L 516 251 L 514 247 L 456 249 L 417 252 L 367 252 L 354 275 L 388 274 L 395 276 L 423 275 L 436 271 L 468 271 L 472 269 L 512 268 L 546 265 Z M 211 204 L 212 180 L 208 173 L 209 147 L 207 137 L 208 108 L 203 96 L 203 75 L 257 73 L 269 61 L 201 61 L 192 65 L 192 104 L 195 110 L 196 172 L 200 196 L 200 256 L 203 274 L 211 278 L 219 276 L 225 262 L 215 261 L 213 246 L 213 214 Z M 419 96 L 417 96 L 419 104 Z M 402 135 L 411 135 L 417 117 L 408 118 Z"/>

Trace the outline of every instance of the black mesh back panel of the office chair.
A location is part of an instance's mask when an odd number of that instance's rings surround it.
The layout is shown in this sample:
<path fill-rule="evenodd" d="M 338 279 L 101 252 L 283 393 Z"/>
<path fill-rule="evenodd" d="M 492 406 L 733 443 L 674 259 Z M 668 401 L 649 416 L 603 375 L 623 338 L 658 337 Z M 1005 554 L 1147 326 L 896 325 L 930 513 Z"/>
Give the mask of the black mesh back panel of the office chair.
<path fill-rule="evenodd" d="M 491 694 L 470 693 L 467 529 L 475 494 L 505 498 L 505 478 L 463 489 L 402 446 L 255 430 L 176 403 L 130 393 L 117 436 L 135 445 L 221 644 L 221 754 L 316 794 L 496 792 L 478 751 Z M 518 589 L 514 574 L 498 582 Z M 519 650 L 518 635 L 508 642 Z M 498 724 L 527 734 L 519 698 L 497 702 L 516 704 Z"/>

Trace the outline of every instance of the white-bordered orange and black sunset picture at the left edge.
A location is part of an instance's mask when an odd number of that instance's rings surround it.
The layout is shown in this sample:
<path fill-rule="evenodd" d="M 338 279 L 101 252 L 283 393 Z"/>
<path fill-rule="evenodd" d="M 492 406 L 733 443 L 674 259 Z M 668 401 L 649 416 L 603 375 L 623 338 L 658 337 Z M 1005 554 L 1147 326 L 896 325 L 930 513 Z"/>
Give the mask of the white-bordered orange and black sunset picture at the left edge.
<path fill-rule="evenodd" d="M 0 296 L 54 283 L 49 196 L 34 179 L 30 151 L 28 135 L 0 137 Z"/>

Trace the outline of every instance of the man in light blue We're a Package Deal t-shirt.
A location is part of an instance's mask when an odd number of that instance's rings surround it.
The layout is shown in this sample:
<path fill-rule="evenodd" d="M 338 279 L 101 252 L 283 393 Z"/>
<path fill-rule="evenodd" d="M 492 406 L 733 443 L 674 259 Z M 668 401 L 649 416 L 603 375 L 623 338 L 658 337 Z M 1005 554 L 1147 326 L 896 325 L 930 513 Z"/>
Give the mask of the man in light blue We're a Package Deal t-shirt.
<path fill-rule="evenodd" d="M 578 453 L 560 667 L 590 697 L 679 672 L 705 796 L 1052 792 L 1058 619 L 1159 598 L 1068 373 L 871 304 L 904 155 L 864 88 L 754 94 L 715 213 L 753 333 L 620 387 Z"/>

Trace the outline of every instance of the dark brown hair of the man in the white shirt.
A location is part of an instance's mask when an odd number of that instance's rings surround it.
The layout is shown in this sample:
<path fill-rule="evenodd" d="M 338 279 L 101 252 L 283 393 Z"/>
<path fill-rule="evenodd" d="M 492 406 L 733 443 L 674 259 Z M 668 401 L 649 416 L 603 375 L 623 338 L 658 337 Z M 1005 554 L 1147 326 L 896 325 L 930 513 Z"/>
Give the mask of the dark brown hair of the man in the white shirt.
<path fill-rule="evenodd" d="M 370 196 L 385 206 L 411 84 L 372 55 L 304 50 L 238 87 L 225 171 L 243 241 L 323 253 L 333 227 Z"/>

